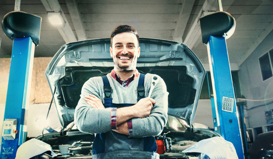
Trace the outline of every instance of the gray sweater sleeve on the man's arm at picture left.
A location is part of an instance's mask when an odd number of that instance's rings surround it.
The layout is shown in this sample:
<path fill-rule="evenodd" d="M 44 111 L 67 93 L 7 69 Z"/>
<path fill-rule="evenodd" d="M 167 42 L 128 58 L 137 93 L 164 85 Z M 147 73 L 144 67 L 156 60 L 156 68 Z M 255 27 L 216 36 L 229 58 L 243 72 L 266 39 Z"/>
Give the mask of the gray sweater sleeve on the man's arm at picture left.
<path fill-rule="evenodd" d="M 92 108 L 84 100 L 85 96 L 93 94 L 98 98 L 101 92 L 99 90 L 99 81 L 101 77 L 91 78 L 84 83 L 80 95 L 80 100 L 75 108 L 74 122 L 78 129 L 85 133 L 104 133 L 111 130 L 111 109 Z M 102 81 L 101 81 L 102 82 Z"/>

